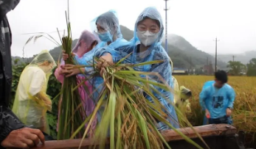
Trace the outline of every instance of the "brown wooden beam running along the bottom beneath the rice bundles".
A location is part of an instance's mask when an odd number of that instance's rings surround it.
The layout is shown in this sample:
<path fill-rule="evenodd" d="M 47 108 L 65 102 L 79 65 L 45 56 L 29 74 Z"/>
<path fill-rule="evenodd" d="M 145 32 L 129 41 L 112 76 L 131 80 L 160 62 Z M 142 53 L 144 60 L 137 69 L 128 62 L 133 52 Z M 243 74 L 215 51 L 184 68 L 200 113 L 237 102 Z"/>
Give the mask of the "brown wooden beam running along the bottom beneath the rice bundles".
<path fill-rule="evenodd" d="M 218 125 L 207 125 L 207 126 L 197 126 L 193 127 L 201 137 L 212 137 L 212 136 L 226 136 L 233 135 L 236 133 L 236 128 L 234 126 L 229 126 L 226 124 L 218 124 Z M 196 138 L 197 135 L 192 128 L 180 128 L 178 129 L 183 134 L 187 135 L 190 138 Z M 163 137 L 165 137 L 167 142 L 171 142 L 174 140 L 183 139 L 179 134 L 177 134 L 173 130 L 162 131 Z M 59 141 L 46 141 L 44 145 L 39 144 L 37 147 L 33 149 L 66 149 L 66 148 L 78 148 L 80 145 L 81 139 L 67 139 L 67 140 L 59 140 Z M 109 141 L 107 140 L 107 143 Z M 92 139 L 84 139 L 82 143 L 83 148 L 88 148 L 92 145 Z"/>

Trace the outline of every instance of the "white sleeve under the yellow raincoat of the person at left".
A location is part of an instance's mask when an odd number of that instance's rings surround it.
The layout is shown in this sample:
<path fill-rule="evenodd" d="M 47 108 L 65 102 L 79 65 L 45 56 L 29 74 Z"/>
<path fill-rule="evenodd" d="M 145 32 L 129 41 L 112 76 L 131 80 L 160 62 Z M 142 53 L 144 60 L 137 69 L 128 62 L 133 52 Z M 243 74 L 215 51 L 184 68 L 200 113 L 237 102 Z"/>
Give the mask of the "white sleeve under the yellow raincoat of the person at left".
<path fill-rule="evenodd" d="M 46 74 L 42 70 L 37 70 L 32 74 L 29 92 L 34 96 L 38 92 L 41 92 L 44 82 L 46 81 Z"/>

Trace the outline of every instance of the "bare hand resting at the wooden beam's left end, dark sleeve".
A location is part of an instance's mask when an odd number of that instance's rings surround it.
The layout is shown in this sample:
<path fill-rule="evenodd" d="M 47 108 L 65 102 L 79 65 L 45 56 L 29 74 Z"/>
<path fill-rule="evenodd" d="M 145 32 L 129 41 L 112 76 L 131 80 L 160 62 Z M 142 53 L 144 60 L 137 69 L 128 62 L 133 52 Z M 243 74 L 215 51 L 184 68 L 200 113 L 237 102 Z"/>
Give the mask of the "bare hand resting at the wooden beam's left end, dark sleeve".
<path fill-rule="evenodd" d="M 44 144 L 44 134 L 39 129 L 21 128 L 11 131 L 1 142 L 4 148 L 30 148 L 38 145 L 41 141 Z"/>

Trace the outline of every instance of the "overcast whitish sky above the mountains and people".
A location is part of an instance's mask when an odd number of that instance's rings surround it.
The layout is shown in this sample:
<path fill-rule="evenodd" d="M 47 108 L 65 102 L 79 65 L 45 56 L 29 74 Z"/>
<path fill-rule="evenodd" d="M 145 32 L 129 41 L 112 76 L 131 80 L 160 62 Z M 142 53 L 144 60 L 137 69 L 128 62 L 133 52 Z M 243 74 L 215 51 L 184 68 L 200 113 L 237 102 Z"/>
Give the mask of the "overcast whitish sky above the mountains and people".
<path fill-rule="evenodd" d="M 156 7 L 165 19 L 163 0 L 69 0 L 72 35 L 79 37 L 90 29 L 90 21 L 108 10 L 116 10 L 120 24 L 134 30 L 134 23 L 145 7 Z M 178 34 L 193 46 L 208 53 L 215 52 L 218 37 L 220 54 L 237 54 L 256 50 L 255 0 L 170 0 L 168 1 L 168 33 Z M 66 29 L 66 0 L 21 0 L 8 13 L 13 32 L 13 56 L 22 56 L 22 48 L 31 32 L 55 32 Z M 51 34 L 59 41 L 57 33 Z M 25 48 L 25 57 L 52 49 L 55 44 L 39 39 Z"/>

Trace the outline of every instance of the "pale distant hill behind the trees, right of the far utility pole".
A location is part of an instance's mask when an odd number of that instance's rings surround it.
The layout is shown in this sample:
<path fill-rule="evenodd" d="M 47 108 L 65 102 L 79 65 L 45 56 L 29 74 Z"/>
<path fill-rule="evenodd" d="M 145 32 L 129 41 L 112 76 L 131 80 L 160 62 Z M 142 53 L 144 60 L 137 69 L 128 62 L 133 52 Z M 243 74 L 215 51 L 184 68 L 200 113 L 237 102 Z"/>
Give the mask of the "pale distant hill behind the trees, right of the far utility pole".
<path fill-rule="evenodd" d="M 243 64 L 247 64 L 250 59 L 256 57 L 256 51 L 246 51 L 243 54 L 218 54 L 218 59 L 223 62 L 229 62 L 233 60 L 233 56 L 235 56 L 235 61 L 240 61 Z"/>

